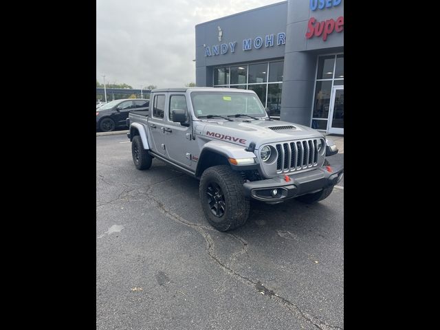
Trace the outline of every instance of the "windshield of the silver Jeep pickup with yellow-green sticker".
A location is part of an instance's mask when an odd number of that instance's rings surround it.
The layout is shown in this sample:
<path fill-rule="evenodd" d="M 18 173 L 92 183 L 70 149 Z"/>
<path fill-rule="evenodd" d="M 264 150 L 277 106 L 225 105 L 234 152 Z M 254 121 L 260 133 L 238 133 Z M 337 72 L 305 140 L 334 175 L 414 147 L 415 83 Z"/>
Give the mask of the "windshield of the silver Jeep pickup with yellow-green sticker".
<path fill-rule="evenodd" d="M 192 108 L 197 118 L 206 115 L 234 116 L 236 114 L 266 116 L 260 99 L 250 93 L 227 91 L 193 91 Z"/>

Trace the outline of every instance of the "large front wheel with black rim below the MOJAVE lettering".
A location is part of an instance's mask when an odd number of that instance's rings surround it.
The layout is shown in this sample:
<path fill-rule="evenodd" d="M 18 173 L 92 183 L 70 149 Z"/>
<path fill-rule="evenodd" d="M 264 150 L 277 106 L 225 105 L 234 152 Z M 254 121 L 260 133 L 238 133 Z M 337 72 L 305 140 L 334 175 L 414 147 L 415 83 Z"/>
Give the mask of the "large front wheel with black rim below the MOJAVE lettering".
<path fill-rule="evenodd" d="M 243 177 L 228 165 L 212 166 L 201 175 L 201 207 L 212 227 L 225 232 L 244 225 L 250 201 L 245 198 Z"/>

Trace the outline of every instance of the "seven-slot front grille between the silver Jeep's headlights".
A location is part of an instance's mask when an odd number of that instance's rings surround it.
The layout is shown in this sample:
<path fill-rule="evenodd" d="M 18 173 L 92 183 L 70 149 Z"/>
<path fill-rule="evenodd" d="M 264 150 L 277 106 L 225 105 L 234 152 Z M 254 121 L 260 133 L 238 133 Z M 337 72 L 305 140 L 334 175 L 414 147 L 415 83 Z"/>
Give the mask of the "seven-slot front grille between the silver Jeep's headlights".
<path fill-rule="evenodd" d="M 287 173 L 318 166 L 318 139 L 275 144 L 278 152 L 276 173 Z"/>

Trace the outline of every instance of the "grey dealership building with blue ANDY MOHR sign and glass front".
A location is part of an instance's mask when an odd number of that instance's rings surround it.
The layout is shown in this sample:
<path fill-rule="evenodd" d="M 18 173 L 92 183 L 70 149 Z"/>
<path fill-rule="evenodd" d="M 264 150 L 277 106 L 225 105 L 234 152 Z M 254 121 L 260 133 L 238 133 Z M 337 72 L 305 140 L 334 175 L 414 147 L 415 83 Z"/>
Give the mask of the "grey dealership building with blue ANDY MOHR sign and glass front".
<path fill-rule="evenodd" d="M 343 0 L 289 0 L 195 27 L 196 85 L 252 89 L 271 117 L 344 134 Z"/>

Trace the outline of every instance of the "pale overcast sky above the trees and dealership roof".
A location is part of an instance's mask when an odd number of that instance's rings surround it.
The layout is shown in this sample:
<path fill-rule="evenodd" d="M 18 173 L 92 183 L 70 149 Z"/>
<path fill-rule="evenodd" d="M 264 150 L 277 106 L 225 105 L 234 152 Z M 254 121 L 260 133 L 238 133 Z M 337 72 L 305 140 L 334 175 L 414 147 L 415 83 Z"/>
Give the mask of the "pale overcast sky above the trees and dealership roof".
<path fill-rule="evenodd" d="M 195 83 L 195 25 L 281 0 L 96 0 L 96 79 Z"/>

